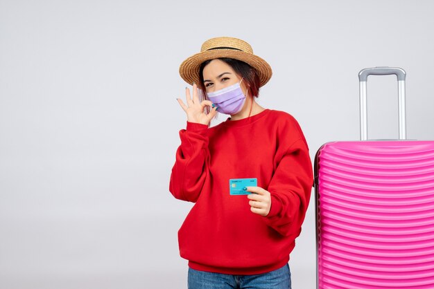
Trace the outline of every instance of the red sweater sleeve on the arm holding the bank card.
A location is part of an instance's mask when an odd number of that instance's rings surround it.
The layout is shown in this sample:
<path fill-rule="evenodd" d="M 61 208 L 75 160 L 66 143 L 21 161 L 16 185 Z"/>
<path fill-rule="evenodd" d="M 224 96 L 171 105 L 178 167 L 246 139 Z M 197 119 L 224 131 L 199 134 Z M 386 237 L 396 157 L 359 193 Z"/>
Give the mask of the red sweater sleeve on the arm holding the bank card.
<path fill-rule="evenodd" d="M 293 142 L 280 158 L 268 185 L 271 209 L 266 223 L 283 236 L 298 236 L 311 197 L 313 172 L 304 137 Z"/>

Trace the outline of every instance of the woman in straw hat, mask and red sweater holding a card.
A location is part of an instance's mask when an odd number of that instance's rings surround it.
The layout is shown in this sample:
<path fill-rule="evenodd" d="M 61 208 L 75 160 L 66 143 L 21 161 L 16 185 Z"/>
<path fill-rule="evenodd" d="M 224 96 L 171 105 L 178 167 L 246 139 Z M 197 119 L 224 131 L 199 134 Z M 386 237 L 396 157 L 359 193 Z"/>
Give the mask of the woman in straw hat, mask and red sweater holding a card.
<path fill-rule="evenodd" d="M 182 62 L 180 75 L 193 91 L 177 100 L 187 123 L 170 191 L 196 203 L 178 232 L 189 288 L 290 288 L 289 254 L 313 175 L 297 121 L 254 100 L 270 66 L 245 41 L 218 37 Z M 217 112 L 230 118 L 209 127 Z"/>

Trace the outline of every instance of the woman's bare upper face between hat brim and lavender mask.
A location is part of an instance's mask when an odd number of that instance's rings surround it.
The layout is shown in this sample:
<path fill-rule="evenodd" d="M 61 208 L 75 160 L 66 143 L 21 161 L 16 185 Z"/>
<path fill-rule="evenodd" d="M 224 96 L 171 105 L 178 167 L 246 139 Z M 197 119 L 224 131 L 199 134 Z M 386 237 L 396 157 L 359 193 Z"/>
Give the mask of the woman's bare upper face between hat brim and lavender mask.
<path fill-rule="evenodd" d="M 211 93 L 241 82 L 241 77 L 235 73 L 231 66 L 222 60 L 213 59 L 203 68 L 203 80 L 207 93 Z M 244 82 L 241 82 L 241 89 L 246 94 Z"/>

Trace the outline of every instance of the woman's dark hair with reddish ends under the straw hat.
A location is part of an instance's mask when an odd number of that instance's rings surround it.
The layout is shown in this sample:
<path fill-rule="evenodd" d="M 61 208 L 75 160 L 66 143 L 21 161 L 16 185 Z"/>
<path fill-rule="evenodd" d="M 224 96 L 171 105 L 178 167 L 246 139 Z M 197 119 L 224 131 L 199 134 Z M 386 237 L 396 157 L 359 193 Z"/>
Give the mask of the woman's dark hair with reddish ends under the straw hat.
<path fill-rule="evenodd" d="M 249 64 L 242 62 L 241 60 L 233 59 L 233 58 L 217 58 L 221 61 L 225 62 L 225 64 L 229 65 L 234 69 L 235 73 L 241 77 L 243 77 L 243 81 L 248 86 L 250 95 L 253 95 L 254 97 L 259 96 L 259 86 L 261 86 L 261 80 L 259 80 L 259 75 L 252 66 Z M 199 88 L 203 91 L 203 99 L 207 100 L 207 89 L 205 87 L 205 84 L 203 83 L 203 70 L 205 66 L 209 64 L 213 59 L 209 59 L 206 62 L 203 62 L 200 64 L 199 68 L 199 80 L 198 83 Z"/>

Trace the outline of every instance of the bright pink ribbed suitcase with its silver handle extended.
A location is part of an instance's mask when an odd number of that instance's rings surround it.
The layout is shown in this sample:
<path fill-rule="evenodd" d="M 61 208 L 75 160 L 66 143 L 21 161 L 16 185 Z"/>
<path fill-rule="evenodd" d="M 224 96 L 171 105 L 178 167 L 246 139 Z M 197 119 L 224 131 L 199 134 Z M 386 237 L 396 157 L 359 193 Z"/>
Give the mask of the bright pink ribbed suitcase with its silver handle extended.
<path fill-rule="evenodd" d="M 368 75 L 397 75 L 399 140 L 367 140 Z M 434 288 L 434 142 L 406 140 L 401 68 L 359 73 L 361 141 L 315 156 L 317 288 Z"/>

